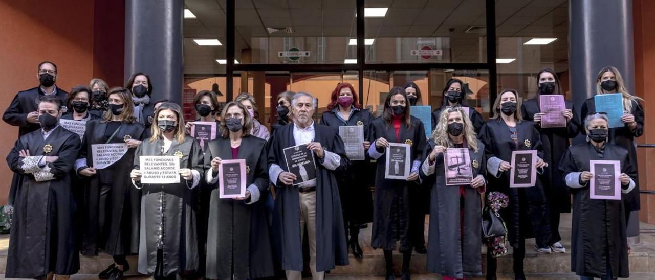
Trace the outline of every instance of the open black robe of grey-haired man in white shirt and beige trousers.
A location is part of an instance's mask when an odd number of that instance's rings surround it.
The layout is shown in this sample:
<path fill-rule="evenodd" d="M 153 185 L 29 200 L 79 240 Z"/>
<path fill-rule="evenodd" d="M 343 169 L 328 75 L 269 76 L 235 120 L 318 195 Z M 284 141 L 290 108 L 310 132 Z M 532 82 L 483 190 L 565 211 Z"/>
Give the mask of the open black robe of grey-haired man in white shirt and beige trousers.
<path fill-rule="evenodd" d="M 287 170 L 284 158 L 285 148 L 295 146 L 293 124 L 282 126 L 271 137 L 269 167 L 277 164 Z M 333 128 L 314 122 L 314 142 L 321 143 L 329 152 L 341 156 L 339 167 L 331 171 L 316 162 L 316 271 L 327 271 L 337 266 L 348 265 L 348 248 L 341 213 L 341 199 L 337 173 L 350 165 L 343 141 Z M 303 244 L 300 230 L 300 205 L 297 186 L 276 184 L 276 200 L 273 210 L 272 230 L 275 242 L 281 246 L 277 251 L 282 270 L 303 270 Z"/>

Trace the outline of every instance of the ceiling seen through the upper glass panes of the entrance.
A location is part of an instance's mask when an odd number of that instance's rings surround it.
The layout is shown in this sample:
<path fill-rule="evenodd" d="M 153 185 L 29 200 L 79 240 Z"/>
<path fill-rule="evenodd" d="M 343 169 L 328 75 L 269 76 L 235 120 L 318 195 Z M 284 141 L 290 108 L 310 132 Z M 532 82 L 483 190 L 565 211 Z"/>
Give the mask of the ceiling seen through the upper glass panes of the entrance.
<path fill-rule="evenodd" d="M 235 1 L 235 50 L 250 48 L 256 63 L 283 63 L 284 37 L 293 46 L 310 50 L 305 63 L 343 63 L 355 58 L 355 0 L 238 0 Z M 486 33 L 466 33 L 485 27 L 485 0 L 366 0 L 366 7 L 388 7 L 384 18 L 365 18 L 369 63 L 417 62 L 407 42 L 418 37 L 438 38 L 444 49 L 432 62 L 475 63 L 486 60 Z M 225 59 L 225 0 L 185 0 L 196 19 L 184 20 L 185 73 L 225 73 L 215 62 Z M 291 34 L 269 34 L 266 27 L 291 27 Z M 543 67 L 568 68 L 568 0 L 496 0 L 499 73 L 535 73 Z M 319 50 L 317 37 L 326 37 Z M 533 37 L 553 37 L 546 46 L 525 46 Z M 219 39 L 223 46 L 196 46 L 191 39 Z M 290 41 L 289 39 L 287 40 Z M 287 43 L 288 43 L 287 42 Z M 411 44 L 411 43 L 409 43 Z M 372 51 L 372 53 L 371 53 Z M 321 54 L 319 54 L 321 53 Z"/>

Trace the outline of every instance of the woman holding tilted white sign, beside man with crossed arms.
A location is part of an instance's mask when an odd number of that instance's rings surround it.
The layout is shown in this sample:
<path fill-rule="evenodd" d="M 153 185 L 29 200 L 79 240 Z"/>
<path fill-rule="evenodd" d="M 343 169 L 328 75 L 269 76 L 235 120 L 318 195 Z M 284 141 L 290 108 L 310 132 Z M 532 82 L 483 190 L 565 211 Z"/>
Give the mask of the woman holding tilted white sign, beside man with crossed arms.
<path fill-rule="evenodd" d="M 130 269 L 125 256 L 136 254 L 139 249 L 141 192 L 132 188 L 130 170 L 134 150 L 149 134 L 134 120 L 130 90 L 112 88 L 107 97 L 109 110 L 102 120 L 86 122 L 75 168 L 79 175 L 90 178 L 85 195 L 82 253 L 96 255 L 98 249 L 104 249 L 113 256 L 114 264 L 99 277 L 105 279 L 113 275 L 120 279 L 123 271 Z M 96 169 L 93 147 L 106 144 L 124 144 L 125 152 L 119 160 Z"/>

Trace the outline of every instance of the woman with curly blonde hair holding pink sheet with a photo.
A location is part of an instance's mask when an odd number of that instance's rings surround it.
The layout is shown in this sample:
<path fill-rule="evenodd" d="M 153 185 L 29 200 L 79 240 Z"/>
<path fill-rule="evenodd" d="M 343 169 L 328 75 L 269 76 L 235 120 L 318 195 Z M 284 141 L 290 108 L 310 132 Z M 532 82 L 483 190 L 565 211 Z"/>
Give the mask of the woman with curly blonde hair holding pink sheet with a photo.
<path fill-rule="evenodd" d="M 480 196 L 485 193 L 485 146 L 476 139 L 471 120 L 461 107 L 444 109 L 439 118 L 439 125 L 421 157 L 421 178 L 432 187 L 427 266 L 446 280 L 477 277 L 482 275 L 479 226 Z M 455 158 L 454 164 L 453 158 L 445 161 L 445 152 L 455 149 L 468 149 L 468 152 L 449 153 L 462 157 Z M 460 160 L 463 166 L 458 164 Z M 470 175 L 468 183 L 450 185 L 447 172 L 453 165 L 455 173 L 461 168 L 460 173 Z"/>

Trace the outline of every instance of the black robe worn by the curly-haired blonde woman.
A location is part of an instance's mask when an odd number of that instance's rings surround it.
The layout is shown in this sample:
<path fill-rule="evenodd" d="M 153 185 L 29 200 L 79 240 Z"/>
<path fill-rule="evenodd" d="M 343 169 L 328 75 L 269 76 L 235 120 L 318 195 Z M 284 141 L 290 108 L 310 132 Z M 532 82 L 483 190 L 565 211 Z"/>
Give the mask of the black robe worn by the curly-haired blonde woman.
<path fill-rule="evenodd" d="M 434 149 L 434 139 L 428 141 L 423 149 L 422 161 L 426 161 Z M 468 148 L 473 178 L 487 173 L 485 165 L 485 145 L 477 141 L 477 152 Z M 425 183 L 432 183 L 430 195 L 430 229 L 428 231 L 429 271 L 457 278 L 482 275 L 480 258 L 482 243 L 482 210 L 477 189 L 464 186 L 464 208 L 460 205 L 460 186 L 447 186 L 443 170 L 443 153 L 435 158 L 434 173 L 426 176 L 420 169 Z M 481 187 L 484 188 L 484 187 Z M 464 224 L 460 222 L 460 211 L 464 215 Z M 460 234 L 460 230 L 463 233 Z M 462 240 L 463 239 L 463 240 Z"/>

